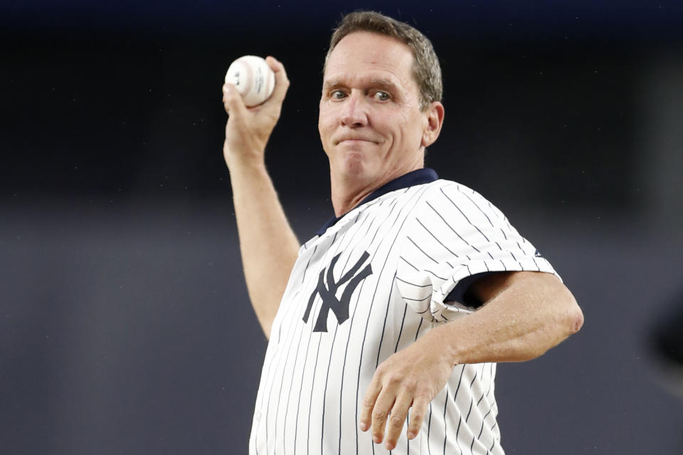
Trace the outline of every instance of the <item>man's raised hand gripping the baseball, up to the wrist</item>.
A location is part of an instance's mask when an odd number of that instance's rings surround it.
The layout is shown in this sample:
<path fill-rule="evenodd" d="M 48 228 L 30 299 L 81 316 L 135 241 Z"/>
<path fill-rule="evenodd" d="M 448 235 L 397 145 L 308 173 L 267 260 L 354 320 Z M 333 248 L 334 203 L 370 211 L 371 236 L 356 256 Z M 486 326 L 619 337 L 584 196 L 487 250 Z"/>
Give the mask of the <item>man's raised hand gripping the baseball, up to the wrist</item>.
<path fill-rule="evenodd" d="M 234 85 L 223 85 L 223 106 L 228 112 L 226 141 L 223 157 L 228 168 L 240 164 L 263 164 L 265 144 L 280 118 L 282 102 L 285 100 L 290 81 L 285 67 L 275 58 L 265 59 L 275 73 L 275 88 L 270 98 L 255 107 L 245 107 L 242 96 Z"/>

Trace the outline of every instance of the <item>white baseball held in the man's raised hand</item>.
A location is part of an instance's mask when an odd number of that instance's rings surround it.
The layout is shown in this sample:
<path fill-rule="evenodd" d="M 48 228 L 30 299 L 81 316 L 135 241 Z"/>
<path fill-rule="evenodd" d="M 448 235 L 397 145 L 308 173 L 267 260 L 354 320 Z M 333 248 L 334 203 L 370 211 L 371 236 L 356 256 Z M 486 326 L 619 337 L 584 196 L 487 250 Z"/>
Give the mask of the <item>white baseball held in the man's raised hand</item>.
<path fill-rule="evenodd" d="M 231 63 L 226 73 L 228 83 L 235 85 L 245 106 L 253 107 L 268 100 L 275 88 L 275 74 L 263 58 L 245 55 Z"/>

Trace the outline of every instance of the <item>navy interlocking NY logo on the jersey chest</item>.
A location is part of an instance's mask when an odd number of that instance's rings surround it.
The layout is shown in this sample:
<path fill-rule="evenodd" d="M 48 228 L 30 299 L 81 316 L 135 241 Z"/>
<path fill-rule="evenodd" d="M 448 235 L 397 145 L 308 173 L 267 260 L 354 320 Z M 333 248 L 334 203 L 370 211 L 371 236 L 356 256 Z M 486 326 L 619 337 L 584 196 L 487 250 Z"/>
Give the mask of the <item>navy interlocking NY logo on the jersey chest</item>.
<path fill-rule="evenodd" d="M 313 301 L 315 296 L 320 294 L 322 299 L 322 304 L 320 305 L 320 312 L 318 313 L 318 319 L 315 321 L 315 326 L 313 328 L 314 332 L 327 332 L 327 314 L 329 310 L 334 311 L 334 316 L 337 316 L 337 323 L 341 324 L 346 319 L 349 319 L 349 303 L 351 301 L 351 294 L 354 294 L 356 287 L 363 281 L 369 274 L 372 273 L 372 267 L 367 264 L 359 274 L 354 277 L 354 274 L 358 272 L 361 265 L 370 257 L 368 252 L 364 252 L 363 255 L 358 259 L 358 262 L 351 267 L 349 272 L 346 272 L 338 282 L 334 281 L 334 265 L 337 264 L 339 256 L 342 253 L 332 258 L 332 263 L 329 264 L 327 268 L 327 286 L 325 285 L 325 269 L 320 271 L 320 276 L 318 277 L 318 285 L 311 294 L 311 298 L 308 300 L 308 306 L 306 307 L 306 312 L 302 318 L 304 322 L 308 322 L 308 317 L 310 316 L 311 309 L 313 307 Z M 348 284 L 346 284 L 348 282 Z M 342 292 L 342 298 L 337 299 L 337 290 L 346 284 L 346 289 Z"/>

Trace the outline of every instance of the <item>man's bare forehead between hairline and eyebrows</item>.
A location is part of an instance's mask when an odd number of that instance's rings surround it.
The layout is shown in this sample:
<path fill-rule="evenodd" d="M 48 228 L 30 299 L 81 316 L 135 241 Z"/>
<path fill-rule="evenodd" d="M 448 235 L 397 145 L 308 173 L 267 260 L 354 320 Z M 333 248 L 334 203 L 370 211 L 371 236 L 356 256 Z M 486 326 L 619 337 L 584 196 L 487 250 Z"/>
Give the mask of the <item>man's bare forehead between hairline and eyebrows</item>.
<path fill-rule="evenodd" d="M 349 33 L 329 55 L 323 79 L 325 83 L 381 79 L 416 88 L 413 53 L 408 45 L 390 36 L 366 31 Z"/>

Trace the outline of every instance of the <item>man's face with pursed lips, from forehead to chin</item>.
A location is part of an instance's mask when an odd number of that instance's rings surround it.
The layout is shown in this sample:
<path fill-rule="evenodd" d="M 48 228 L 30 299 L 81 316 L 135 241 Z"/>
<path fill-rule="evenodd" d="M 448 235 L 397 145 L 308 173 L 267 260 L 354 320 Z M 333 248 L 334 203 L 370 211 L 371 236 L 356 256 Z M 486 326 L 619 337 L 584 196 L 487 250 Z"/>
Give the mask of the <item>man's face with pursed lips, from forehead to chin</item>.
<path fill-rule="evenodd" d="M 318 130 L 333 181 L 371 186 L 423 167 L 429 109 L 412 65 L 407 45 L 377 33 L 351 33 L 332 50 Z"/>

